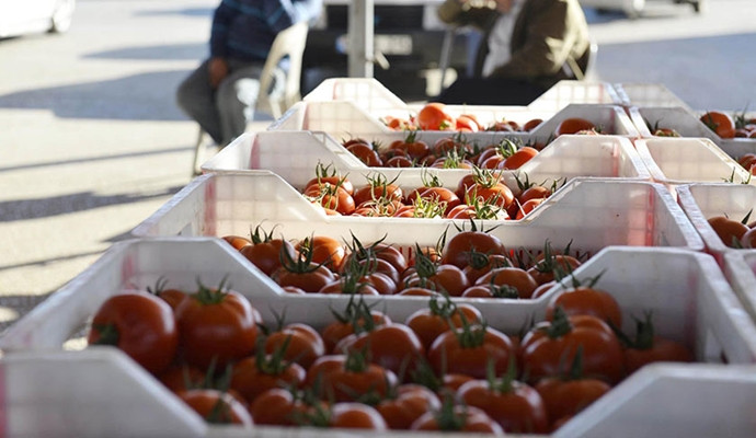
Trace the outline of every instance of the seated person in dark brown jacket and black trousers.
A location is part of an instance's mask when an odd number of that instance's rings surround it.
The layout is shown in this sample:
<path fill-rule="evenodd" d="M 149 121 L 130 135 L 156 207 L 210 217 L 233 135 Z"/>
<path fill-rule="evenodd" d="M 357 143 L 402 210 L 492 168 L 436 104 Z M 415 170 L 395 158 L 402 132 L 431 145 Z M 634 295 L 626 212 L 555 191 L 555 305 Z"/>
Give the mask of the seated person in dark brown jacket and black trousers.
<path fill-rule="evenodd" d="M 508 58 L 491 65 L 490 42 L 497 24 L 519 11 L 509 35 Z M 438 16 L 483 31 L 474 76 L 460 78 L 436 100 L 450 104 L 526 105 L 562 79 L 583 79 L 591 56 L 588 25 L 577 0 L 495 0 L 496 9 L 446 0 Z M 501 51 L 501 50 L 499 50 Z M 486 62 L 486 60 L 489 62 Z M 488 64 L 488 66 L 486 66 Z"/>

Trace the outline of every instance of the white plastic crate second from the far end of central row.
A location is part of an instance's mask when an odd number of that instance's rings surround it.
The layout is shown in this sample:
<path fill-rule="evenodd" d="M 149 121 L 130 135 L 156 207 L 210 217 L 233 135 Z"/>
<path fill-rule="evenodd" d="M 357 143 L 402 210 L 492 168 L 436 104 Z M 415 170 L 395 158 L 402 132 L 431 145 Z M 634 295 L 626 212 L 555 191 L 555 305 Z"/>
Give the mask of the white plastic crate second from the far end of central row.
<path fill-rule="evenodd" d="M 523 134 L 540 142 L 549 142 L 559 124 L 570 117 L 581 117 L 600 127 L 604 132 L 628 138 L 639 137 L 625 110 L 609 104 L 570 104 L 558 113 L 539 113 L 507 106 L 449 106 L 451 116 L 461 114 L 474 115 L 479 123 L 488 126 L 496 120 L 511 119 L 519 124 L 532 118 L 541 123 L 532 131 Z M 408 108 L 401 108 L 381 116 L 409 117 Z M 369 114 L 360 104 L 352 101 L 298 102 L 278 120 L 268 126 L 268 130 L 322 130 L 334 138 L 371 137 L 392 132 L 380 116 Z"/>

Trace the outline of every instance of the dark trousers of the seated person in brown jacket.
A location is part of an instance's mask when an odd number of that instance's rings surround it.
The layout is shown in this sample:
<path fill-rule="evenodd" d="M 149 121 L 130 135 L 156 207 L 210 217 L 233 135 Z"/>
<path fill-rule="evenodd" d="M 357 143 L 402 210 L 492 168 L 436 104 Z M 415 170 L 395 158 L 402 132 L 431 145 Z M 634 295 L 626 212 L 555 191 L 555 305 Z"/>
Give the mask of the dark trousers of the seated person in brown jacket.
<path fill-rule="evenodd" d="M 505 78 L 459 78 L 433 102 L 468 105 L 527 105 L 547 89 Z"/>

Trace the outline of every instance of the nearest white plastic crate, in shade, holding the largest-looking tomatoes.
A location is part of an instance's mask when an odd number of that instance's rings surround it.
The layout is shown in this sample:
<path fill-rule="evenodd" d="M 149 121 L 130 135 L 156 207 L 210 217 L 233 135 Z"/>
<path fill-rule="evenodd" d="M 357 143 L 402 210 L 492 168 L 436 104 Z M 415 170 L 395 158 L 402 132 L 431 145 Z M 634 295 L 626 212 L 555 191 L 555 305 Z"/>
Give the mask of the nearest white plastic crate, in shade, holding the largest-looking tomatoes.
<path fill-rule="evenodd" d="M 35 436 L 249 434 L 241 428 L 202 424 L 156 379 L 113 347 L 61 351 L 61 345 L 87 324 L 110 296 L 153 286 L 160 277 L 177 288 L 193 288 L 197 278 L 213 284 L 227 277 L 233 289 L 247 296 L 267 323 L 273 323 L 275 313 L 286 309 L 287 321 L 319 328 L 332 321 L 331 308 L 339 308 L 348 299 L 343 296 L 280 293 L 268 287 L 260 273 L 250 266 L 234 250 L 216 239 L 149 239 L 114 244 L 84 273 L 12 325 L 0 339 L 0 348 L 5 351 L 1 362 L 5 373 L 2 401 L 8 413 L 9 436 L 22 433 Z M 598 274 L 602 277 L 596 286 L 618 300 L 626 331 L 634 328 L 632 315 L 639 316 L 650 310 L 655 315 L 656 333 L 685 343 L 699 361 L 718 362 L 722 357 L 731 364 L 756 361 L 756 326 L 709 255 L 677 249 L 610 247 L 575 270 L 575 276 L 583 280 Z M 552 289 L 537 300 L 467 301 L 478 306 L 492 326 L 517 333 L 531 318 L 542 318 L 546 303 L 554 291 Z M 381 310 L 394 321 L 403 321 L 414 310 L 427 306 L 426 297 L 401 300 L 365 298 L 379 301 Z M 677 367 L 680 370 L 699 369 L 696 366 Z M 651 373 L 652 380 L 666 376 L 664 372 L 658 374 L 660 371 Z M 719 418 L 719 406 L 723 411 L 732 408 L 726 404 L 710 405 L 712 415 L 692 418 L 697 413 L 695 408 L 699 408 L 696 402 L 677 397 L 676 403 L 666 403 L 668 396 L 686 393 L 687 383 L 679 383 L 680 388 L 674 384 L 665 387 L 667 396 L 657 399 L 650 396 L 655 395 L 653 388 L 656 387 L 648 384 L 648 373 L 642 371 L 629 377 L 605 395 L 606 401 L 600 405 L 605 407 L 598 410 L 600 415 L 597 416 L 592 407 L 574 417 L 558 436 L 599 436 L 596 430 L 603 430 L 607 423 L 621 426 L 615 429 L 617 434 L 634 434 L 638 429 L 629 428 L 628 422 L 639 414 L 641 401 L 650 417 L 663 412 L 678 414 L 667 416 L 664 424 L 644 425 L 648 436 L 661 430 L 697 436 L 700 429 L 689 429 L 689 425 L 700 423 L 710 427 L 711 422 Z M 706 382 L 706 378 L 694 380 L 694 383 L 700 383 L 698 380 Z M 718 393 L 728 389 L 714 387 L 710 391 Z M 76 403 L 70 403 L 73 400 Z M 634 408 L 607 411 L 609 401 L 633 405 Z M 688 411 L 688 405 L 695 408 Z M 104 415 L 107 412 L 117 415 Z M 60 420 L 64 416 L 66 420 Z M 749 416 L 735 418 L 736 427 L 733 427 L 742 429 L 749 422 Z M 335 431 L 319 434 L 327 433 L 332 436 Z M 256 427 L 255 434 L 265 437 L 325 436 L 313 435 L 316 433 L 309 429 L 267 427 Z M 365 436 L 375 437 L 390 435 L 393 434 L 365 433 Z"/>

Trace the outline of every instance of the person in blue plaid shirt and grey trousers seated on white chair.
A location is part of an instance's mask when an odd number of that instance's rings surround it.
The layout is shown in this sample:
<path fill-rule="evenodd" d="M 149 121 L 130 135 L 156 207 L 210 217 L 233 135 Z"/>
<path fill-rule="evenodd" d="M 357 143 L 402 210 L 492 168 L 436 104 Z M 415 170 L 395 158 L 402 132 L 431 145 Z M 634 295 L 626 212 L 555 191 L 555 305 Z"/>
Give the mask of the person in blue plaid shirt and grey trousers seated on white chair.
<path fill-rule="evenodd" d="M 216 145 L 228 145 L 253 117 L 257 78 L 278 32 L 316 20 L 321 10 L 322 0 L 222 0 L 213 16 L 209 59 L 176 92 L 181 110 Z M 285 71 L 285 60 L 278 67 Z"/>

